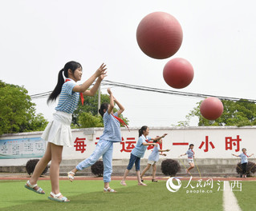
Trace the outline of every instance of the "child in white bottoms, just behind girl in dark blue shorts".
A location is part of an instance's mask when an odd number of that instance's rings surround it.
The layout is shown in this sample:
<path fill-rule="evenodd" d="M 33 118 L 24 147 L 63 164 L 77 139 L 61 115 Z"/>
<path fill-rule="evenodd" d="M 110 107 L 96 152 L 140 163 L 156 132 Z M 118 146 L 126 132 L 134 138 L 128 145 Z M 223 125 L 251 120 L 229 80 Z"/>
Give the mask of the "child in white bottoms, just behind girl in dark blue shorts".
<path fill-rule="evenodd" d="M 152 150 L 152 153 L 149 155 L 148 157 L 148 165 L 146 168 L 144 168 L 144 170 L 141 173 L 141 181 L 143 182 L 143 176 L 144 173 L 146 173 L 148 171 L 148 169 L 150 169 L 150 166 L 152 165 L 152 182 L 157 182 L 155 180 L 156 177 L 156 162 L 159 161 L 159 154 L 166 156 L 165 153 L 161 153 L 161 152 L 169 152 L 170 149 L 160 149 L 160 145 L 162 144 L 162 139 L 159 139 L 158 141 L 153 141 L 158 143 L 158 145 L 154 146 L 154 149 Z"/>

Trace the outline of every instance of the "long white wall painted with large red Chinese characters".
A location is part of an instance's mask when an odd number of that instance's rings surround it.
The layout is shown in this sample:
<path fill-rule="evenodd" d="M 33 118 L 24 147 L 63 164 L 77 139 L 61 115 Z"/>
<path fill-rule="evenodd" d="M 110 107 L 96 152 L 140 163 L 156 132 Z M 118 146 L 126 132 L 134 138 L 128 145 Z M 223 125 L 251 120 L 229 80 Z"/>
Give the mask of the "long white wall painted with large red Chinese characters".
<path fill-rule="evenodd" d="M 122 136 L 124 138 L 123 144 L 115 143 L 114 144 L 114 153 L 113 159 L 122 159 L 129 158 L 130 152 L 121 152 L 122 145 L 125 147 L 128 146 L 127 141 L 137 141 L 138 132 L 137 128 L 131 128 L 131 132 L 128 132 L 127 129 L 121 129 Z M 84 141 L 85 151 L 82 153 L 79 150 L 76 150 L 75 146 L 70 148 L 63 149 L 63 159 L 83 159 L 89 157 L 92 151 L 95 149 L 95 142 L 98 141 L 97 138 L 102 134 L 102 128 L 95 129 L 73 129 L 72 137 L 73 141 L 77 138 L 86 139 L 79 140 Z M 252 127 L 165 127 L 165 128 L 151 128 L 149 136 L 156 137 L 160 136 L 163 133 L 168 133 L 163 139 L 163 149 L 171 149 L 167 157 L 176 158 L 181 153 L 185 153 L 189 148 L 188 145 L 175 145 L 175 143 L 193 143 L 195 145 L 194 152 L 195 157 L 198 158 L 231 158 L 231 153 L 239 154 L 241 153 L 241 149 L 245 147 L 247 149 L 247 153 L 256 153 L 254 150 L 256 149 L 256 126 Z M 1 152 L 1 143 L 6 142 L 6 140 L 10 139 L 24 139 L 29 137 L 40 137 L 42 132 L 33 132 L 33 133 L 16 133 L 16 134 L 4 134 L 0 137 L 0 154 Z M 209 149 L 208 151 L 205 149 L 206 141 L 205 137 L 209 138 Z M 236 141 L 237 136 L 241 139 L 241 141 Z M 226 145 L 231 137 L 231 149 L 226 149 Z M 131 140 L 132 139 L 132 140 Z M 226 141 L 227 139 L 227 141 Z M 205 142 L 201 146 L 202 141 Z M 212 145 L 210 145 L 212 143 Z M 133 144 L 135 145 L 135 144 Z M 236 151 L 238 150 L 238 152 Z M 131 149 L 130 149 L 131 151 Z M 147 158 L 149 153 L 151 153 L 152 149 L 146 151 L 144 157 Z M 0 165 L 24 165 L 27 160 L 31 158 L 19 158 L 19 159 L 0 159 Z"/>

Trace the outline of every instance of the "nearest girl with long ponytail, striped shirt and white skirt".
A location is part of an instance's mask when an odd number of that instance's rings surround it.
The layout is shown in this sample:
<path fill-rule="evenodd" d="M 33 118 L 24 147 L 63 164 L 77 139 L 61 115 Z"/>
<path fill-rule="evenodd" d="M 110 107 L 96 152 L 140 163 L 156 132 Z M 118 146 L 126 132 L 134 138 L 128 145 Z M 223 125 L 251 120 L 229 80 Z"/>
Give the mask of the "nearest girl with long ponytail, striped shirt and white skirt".
<path fill-rule="evenodd" d="M 102 64 L 95 74 L 91 75 L 82 85 L 77 85 L 83 74 L 82 66 L 78 62 L 67 62 L 58 74 L 58 82 L 55 89 L 47 99 L 47 103 L 54 102 L 59 97 L 59 102 L 53 114 L 53 121 L 49 122 L 44 130 L 42 138 L 48 141 L 44 156 L 35 166 L 34 173 L 30 180 L 26 181 L 26 189 L 30 189 L 35 193 L 45 194 L 43 189 L 39 188 L 37 181 L 43 170 L 51 161 L 50 178 L 51 178 L 51 193 L 48 199 L 52 201 L 69 201 L 67 197 L 63 197 L 59 192 L 59 164 L 62 160 L 63 146 L 71 146 L 71 120 L 72 113 L 76 109 L 79 96 L 83 104 L 83 96 L 93 96 L 98 90 L 100 83 L 106 76 L 106 66 Z M 91 90 L 87 90 L 95 81 L 95 85 Z"/>

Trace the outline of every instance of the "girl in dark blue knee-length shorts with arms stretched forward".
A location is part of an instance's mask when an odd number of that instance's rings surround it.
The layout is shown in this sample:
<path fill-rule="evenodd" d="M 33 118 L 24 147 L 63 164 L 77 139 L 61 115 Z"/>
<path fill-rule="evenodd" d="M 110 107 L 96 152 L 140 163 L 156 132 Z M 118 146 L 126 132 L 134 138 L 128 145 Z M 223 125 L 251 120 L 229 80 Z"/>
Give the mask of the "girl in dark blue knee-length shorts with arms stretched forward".
<path fill-rule="evenodd" d="M 125 180 L 128 176 L 129 171 L 132 169 L 132 166 L 135 164 L 136 168 L 136 176 L 138 180 L 138 185 L 146 185 L 140 180 L 140 158 L 144 157 L 144 153 L 148 147 L 148 145 L 157 145 L 156 143 L 148 143 L 148 141 L 158 141 L 161 138 L 165 137 L 167 133 L 162 135 L 161 137 L 155 137 L 151 138 L 148 137 L 149 129 L 148 126 L 142 126 L 141 129 L 139 129 L 139 140 L 137 141 L 137 144 L 134 149 L 132 149 L 131 157 L 129 160 L 129 164 L 127 166 L 127 169 L 125 169 L 123 180 L 120 181 L 121 185 L 126 185 Z"/>

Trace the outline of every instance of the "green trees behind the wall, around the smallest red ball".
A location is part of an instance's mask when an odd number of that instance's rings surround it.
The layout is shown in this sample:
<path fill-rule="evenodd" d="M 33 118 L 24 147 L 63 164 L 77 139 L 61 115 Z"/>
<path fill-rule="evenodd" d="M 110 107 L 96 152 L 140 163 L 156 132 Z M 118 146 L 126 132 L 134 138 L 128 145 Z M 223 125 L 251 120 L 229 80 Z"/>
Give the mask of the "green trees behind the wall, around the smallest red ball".
<path fill-rule="evenodd" d="M 179 121 L 178 125 L 188 126 L 192 117 L 198 117 L 198 126 L 256 125 L 256 104 L 252 102 L 243 99 L 238 102 L 222 100 L 224 110 L 221 117 L 215 121 L 209 121 L 201 116 L 201 102 L 197 102 L 197 107 L 189 112 L 185 121 Z"/>

